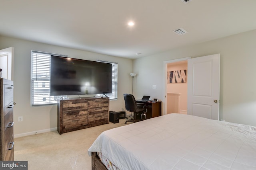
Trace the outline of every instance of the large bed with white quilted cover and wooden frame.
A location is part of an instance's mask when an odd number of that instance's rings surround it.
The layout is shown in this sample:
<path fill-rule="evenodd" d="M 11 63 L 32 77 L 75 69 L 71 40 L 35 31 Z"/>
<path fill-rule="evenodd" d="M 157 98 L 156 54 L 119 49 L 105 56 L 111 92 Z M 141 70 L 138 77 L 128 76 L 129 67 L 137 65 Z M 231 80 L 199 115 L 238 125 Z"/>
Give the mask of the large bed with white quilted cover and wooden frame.
<path fill-rule="evenodd" d="M 88 154 L 92 169 L 252 170 L 256 127 L 172 113 L 104 131 Z"/>

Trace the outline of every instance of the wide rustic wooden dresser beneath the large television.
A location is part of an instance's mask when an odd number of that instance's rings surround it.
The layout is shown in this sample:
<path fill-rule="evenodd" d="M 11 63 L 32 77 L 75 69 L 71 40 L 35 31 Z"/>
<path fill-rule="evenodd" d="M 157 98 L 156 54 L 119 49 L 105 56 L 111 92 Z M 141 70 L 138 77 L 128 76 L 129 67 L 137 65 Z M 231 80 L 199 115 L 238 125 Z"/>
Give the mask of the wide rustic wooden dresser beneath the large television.
<path fill-rule="evenodd" d="M 60 134 L 109 123 L 109 98 L 58 100 L 57 130 Z"/>

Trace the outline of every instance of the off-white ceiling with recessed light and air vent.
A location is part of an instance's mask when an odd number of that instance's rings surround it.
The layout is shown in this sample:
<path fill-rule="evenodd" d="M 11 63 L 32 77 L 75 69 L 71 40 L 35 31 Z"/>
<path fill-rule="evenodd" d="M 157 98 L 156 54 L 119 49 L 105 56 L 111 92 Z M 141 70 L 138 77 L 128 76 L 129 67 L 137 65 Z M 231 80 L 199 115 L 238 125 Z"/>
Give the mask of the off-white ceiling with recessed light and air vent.
<path fill-rule="evenodd" d="M 255 8 L 256 0 L 0 0 L 0 35 L 136 59 L 256 29 Z M 188 33 L 173 32 L 181 27 Z"/>

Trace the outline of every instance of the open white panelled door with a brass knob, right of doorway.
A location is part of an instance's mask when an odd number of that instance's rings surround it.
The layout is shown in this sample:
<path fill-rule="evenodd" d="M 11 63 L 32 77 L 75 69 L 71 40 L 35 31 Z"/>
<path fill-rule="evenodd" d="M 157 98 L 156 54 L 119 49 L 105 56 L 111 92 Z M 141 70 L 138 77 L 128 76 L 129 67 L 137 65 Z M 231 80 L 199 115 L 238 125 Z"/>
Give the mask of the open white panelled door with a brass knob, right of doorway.
<path fill-rule="evenodd" d="M 188 59 L 188 114 L 219 120 L 220 54 Z"/>

